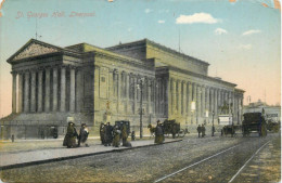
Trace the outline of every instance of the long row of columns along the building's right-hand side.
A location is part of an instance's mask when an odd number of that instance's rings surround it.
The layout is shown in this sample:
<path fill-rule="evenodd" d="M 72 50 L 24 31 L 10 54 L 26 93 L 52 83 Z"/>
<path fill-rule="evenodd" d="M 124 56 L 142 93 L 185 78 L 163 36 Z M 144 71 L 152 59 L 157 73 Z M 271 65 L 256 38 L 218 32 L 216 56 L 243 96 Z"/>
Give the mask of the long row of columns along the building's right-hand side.
<path fill-rule="evenodd" d="M 214 117 L 231 113 L 233 120 L 241 122 L 243 97 L 235 91 L 176 78 L 170 78 L 169 83 L 169 116 L 190 117 L 191 122 L 202 123 L 198 119 L 210 118 L 213 113 Z M 223 106 L 230 112 L 223 112 Z"/>

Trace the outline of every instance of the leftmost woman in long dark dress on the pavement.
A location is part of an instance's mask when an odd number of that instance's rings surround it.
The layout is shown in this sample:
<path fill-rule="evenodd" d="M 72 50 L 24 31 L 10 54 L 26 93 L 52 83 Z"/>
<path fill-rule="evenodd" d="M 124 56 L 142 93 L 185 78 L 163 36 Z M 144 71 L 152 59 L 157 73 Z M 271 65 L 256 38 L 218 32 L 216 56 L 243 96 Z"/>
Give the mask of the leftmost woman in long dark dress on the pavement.
<path fill-rule="evenodd" d="M 77 132 L 74 122 L 68 122 L 63 146 L 67 148 L 76 147 Z"/>

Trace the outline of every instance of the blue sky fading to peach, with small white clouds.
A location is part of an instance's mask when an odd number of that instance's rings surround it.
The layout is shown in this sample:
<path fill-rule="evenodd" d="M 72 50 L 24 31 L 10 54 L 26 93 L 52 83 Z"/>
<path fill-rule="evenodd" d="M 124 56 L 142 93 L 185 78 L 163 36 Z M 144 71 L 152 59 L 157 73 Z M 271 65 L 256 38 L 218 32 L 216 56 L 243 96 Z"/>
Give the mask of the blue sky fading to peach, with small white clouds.
<path fill-rule="evenodd" d="M 209 76 L 246 91 L 244 104 L 248 96 L 280 104 L 281 11 L 274 1 L 5 0 L 0 10 L 0 117 L 12 110 L 7 60 L 36 32 L 38 40 L 59 47 L 87 42 L 106 48 L 148 38 L 208 62 Z"/>

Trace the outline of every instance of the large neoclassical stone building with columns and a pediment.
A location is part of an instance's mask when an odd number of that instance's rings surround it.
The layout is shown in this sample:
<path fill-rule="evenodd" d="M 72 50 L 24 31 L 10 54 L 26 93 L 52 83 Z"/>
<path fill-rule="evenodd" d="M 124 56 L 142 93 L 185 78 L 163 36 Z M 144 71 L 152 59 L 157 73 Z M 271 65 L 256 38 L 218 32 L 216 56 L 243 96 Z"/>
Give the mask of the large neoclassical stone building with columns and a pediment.
<path fill-rule="evenodd" d="M 144 128 L 166 118 L 190 126 L 210 121 L 211 112 L 217 118 L 225 104 L 231 104 L 234 122 L 242 119 L 244 91 L 235 83 L 209 77 L 208 63 L 148 39 L 105 49 L 31 39 L 8 63 L 13 75 L 10 123 L 30 129 L 60 129 L 67 117 L 90 127 L 130 120 L 138 128 L 141 110 Z"/>

